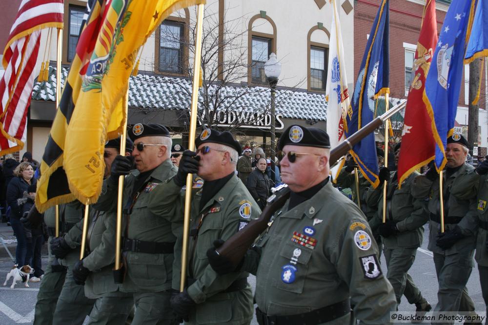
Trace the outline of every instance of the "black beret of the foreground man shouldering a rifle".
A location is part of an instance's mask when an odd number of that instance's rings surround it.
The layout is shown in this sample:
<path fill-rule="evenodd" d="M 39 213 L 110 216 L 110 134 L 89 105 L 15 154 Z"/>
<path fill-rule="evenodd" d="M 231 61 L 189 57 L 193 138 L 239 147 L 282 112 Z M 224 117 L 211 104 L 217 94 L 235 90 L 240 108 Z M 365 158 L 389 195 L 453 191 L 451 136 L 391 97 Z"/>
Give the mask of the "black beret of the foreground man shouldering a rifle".
<path fill-rule="evenodd" d="M 305 128 L 299 125 L 288 127 L 278 141 L 278 150 L 283 150 L 285 145 L 317 148 L 330 148 L 328 134 L 321 129 Z"/>

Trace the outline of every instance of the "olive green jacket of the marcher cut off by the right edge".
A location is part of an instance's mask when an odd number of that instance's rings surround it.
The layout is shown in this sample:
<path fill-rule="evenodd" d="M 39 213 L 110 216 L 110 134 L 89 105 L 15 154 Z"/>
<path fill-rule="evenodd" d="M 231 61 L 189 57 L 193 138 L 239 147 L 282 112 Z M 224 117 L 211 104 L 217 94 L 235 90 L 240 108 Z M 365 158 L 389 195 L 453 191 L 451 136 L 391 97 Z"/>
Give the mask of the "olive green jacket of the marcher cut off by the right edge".
<path fill-rule="evenodd" d="M 479 221 L 488 222 L 488 174 L 478 175 L 474 170 L 456 177 L 451 188 L 451 195 L 460 199 L 476 197 L 476 210 Z M 478 228 L 476 237 L 476 253 L 474 258 L 478 265 L 488 267 L 488 230 Z"/>

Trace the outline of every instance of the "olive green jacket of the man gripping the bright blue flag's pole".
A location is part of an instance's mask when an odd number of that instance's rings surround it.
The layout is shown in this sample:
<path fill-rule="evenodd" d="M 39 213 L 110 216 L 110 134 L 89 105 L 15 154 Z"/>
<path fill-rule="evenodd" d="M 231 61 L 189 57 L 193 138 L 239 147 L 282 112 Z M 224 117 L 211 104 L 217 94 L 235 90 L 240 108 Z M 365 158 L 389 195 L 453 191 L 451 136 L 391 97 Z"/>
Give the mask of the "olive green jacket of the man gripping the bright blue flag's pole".
<path fill-rule="evenodd" d="M 446 198 L 447 192 L 451 191 L 455 179 L 467 172 L 471 172 L 473 169 L 471 165 L 464 163 L 450 177 L 447 177 L 446 171 L 443 171 L 444 198 Z M 418 175 L 414 179 L 412 194 L 419 199 L 428 199 L 428 211 L 432 214 L 440 215 L 439 178 L 431 181 L 425 175 Z M 441 231 L 441 225 L 430 220 L 428 249 L 442 255 L 450 255 L 459 251 L 474 249 L 477 229 L 476 195 L 473 193 L 464 199 L 457 198 L 454 195 L 448 195 L 447 202 L 444 203 L 444 206 L 448 208 L 448 211 L 445 211 L 445 213 L 447 212 L 447 216 L 462 218 L 457 225 L 445 224 L 444 229 L 450 230 L 459 226 L 466 237 L 456 242 L 450 249 L 443 250 L 436 245 L 437 236 Z"/>

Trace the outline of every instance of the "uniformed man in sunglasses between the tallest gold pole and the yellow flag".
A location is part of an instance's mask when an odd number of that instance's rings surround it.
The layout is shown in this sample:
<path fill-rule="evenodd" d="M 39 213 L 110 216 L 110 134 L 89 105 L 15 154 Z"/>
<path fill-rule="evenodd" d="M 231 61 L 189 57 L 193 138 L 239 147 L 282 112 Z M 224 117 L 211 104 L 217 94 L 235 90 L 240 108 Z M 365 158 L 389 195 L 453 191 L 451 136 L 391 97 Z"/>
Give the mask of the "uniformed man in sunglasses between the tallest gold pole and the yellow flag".
<path fill-rule="evenodd" d="M 135 124 L 129 134 L 134 141 L 132 157 L 118 155 L 114 159 L 94 207 L 112 211 L 117 204 L 119 176 L 128 175 L 122 204 L 126 273 L 120 288 L 133 296 L 136 311 L 132 324 L 173 325 L 176 319 L 169 298 L 176 236 L 172 223 L 183 216 L 160 216 L 147 207 L 151 191 L 177 171 L 170 159 L 172 141 L 168 130 L 159 124 Z M 140 172 L 137 176 L 131 173 L 134 161 Z"/>

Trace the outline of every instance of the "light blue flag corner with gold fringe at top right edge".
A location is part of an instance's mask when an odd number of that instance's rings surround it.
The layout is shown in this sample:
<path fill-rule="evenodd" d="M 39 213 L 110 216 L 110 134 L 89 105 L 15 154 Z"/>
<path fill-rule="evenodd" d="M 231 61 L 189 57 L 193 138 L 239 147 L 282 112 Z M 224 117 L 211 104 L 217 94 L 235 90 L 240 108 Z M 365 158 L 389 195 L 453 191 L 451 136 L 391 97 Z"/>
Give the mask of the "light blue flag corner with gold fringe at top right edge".
<path fill-rule="evenodd" d="M 486 56 L 488 56 L 488 1 L 485 0 L 478 1 L 464 63 Z"/>

